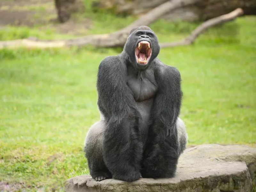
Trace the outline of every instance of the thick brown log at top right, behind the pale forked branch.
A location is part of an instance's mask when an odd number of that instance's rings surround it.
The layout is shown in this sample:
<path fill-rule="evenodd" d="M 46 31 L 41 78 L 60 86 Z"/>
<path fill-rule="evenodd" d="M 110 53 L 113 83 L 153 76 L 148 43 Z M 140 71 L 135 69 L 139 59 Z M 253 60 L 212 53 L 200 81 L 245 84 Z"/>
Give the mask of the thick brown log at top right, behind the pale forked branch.
<path fill-rule="evenodd" d="M 140 15 L 173 0 L 97 0 L 94 9 L 116 10 L 117 14 Z M 186 4 L 187 0 L 182 0 Z M 195 4 L 184 5 L 162 16 L 169 21 L 205 21 L 227 14 L 236 8 L 242 8 L 244 15 L 256 15 L 256 0 L 198 0 Z"/>

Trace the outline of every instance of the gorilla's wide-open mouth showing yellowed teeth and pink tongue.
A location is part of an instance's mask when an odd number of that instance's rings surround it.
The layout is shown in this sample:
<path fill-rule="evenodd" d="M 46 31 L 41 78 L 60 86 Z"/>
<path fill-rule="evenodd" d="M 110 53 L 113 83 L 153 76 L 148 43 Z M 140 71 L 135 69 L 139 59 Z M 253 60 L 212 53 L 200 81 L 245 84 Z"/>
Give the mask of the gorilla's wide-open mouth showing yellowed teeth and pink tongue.
<path fill-rule="evenodd" d="M 151 57 L 151 47 L 148 41 L 141 41 L 135 49 L 137 63 L 146 65 Z"/>

